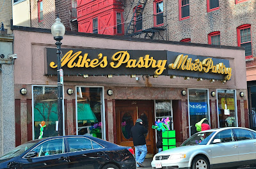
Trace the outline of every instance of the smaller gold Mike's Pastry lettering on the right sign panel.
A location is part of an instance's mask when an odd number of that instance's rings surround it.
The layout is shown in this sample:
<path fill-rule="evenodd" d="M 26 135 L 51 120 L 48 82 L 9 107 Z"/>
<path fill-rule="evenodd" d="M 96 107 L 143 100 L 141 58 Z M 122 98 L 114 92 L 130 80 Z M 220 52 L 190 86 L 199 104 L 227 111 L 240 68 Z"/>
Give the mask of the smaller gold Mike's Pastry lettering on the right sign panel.
<path fill-rule="evenodd" d="M 211 58 L 204 59 L 202 62 L 199 59 L 195 59 L 192 62 L 188 55 L 178 55 L 175 62 L 168 65 L 171 70 L 188 70 L 188 71 L 201 71 L 205 73 L 218 73 L 225 75 L 225 80 L 230 80 L 232 68 L 226 68 L 223 62 L 213 65 Z"/>

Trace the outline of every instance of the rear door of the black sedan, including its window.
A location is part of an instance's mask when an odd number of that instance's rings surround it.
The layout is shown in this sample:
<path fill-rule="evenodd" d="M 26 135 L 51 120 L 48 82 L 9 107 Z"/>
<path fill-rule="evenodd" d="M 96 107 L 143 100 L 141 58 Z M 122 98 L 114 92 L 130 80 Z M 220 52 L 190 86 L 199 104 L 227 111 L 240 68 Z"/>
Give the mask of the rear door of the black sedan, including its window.
<path fill-rule="evenodd" d="M 68 137 L 67 146 L 70 159 L 68 168 L 96 169 L 107 160 L 106 149 L 89 138 Z"/>

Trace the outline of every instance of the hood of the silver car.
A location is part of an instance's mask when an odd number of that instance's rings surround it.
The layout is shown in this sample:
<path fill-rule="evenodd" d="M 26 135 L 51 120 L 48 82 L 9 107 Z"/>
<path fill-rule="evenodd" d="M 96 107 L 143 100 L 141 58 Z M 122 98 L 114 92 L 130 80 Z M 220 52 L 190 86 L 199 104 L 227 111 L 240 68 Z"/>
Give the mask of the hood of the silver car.
<path fill-rule="evenodd" d="M 156 156 L 165 156 L 170 154 L 186 154 L 188 152 L 198 151 L 198 149 L 209 148 L 209 145 L 187 145 L 181 147 L 175 147 L 166 151 L 161 151 L 156 154 Z"/>

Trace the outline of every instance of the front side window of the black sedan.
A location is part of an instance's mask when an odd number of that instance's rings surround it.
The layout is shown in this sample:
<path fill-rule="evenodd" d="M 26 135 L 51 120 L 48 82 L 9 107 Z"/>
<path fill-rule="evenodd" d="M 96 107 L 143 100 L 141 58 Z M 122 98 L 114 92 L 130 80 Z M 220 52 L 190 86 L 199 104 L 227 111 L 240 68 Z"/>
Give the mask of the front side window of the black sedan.
<path fill-rule="evenodd" d="M 54 154 L 64 153 L 64 141 L 63 138 L 48 140 L 41 143 L 32 151 L 38 152 L 38 157 L 49 156 Z"/>

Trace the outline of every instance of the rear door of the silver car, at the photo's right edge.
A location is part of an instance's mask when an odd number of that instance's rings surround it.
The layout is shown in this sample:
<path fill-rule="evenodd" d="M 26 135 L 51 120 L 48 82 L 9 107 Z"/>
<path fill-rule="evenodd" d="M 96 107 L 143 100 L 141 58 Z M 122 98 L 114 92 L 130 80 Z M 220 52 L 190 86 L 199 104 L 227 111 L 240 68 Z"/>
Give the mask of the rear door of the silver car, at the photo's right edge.
<path fill-rule="evenodd" d="M 239 161 L 244 165 L 255 164 L 256 140 L 248 129 L 233 129 L 238 143 Z"/>

